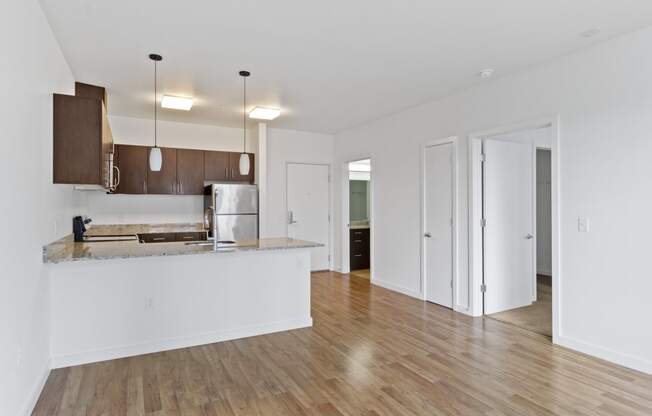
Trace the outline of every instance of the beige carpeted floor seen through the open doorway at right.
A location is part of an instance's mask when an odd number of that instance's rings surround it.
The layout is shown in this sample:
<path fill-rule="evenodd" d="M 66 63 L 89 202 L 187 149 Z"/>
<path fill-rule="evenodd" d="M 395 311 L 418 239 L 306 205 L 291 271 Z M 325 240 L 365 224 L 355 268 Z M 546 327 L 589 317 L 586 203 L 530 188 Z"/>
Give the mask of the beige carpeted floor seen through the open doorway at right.
<path fill-rule="evenodd" d="M 552 338 L 552 278 L 537 276 L 537 301 L 530 306 L 487 315 Z"/>

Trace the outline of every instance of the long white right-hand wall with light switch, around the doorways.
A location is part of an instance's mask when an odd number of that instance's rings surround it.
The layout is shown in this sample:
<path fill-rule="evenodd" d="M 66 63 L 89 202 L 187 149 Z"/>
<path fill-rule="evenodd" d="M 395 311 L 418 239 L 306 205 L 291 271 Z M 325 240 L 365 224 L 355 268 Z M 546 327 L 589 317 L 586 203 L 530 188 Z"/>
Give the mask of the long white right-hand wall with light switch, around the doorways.
<path fill-rule="evenodd" d="M 457 248 L 459 276 L 468 284 L 468 135 L 558 114 L 558 341 L 652 372 L 646 319 L 652 222 L 645 220 L 652 211 L 647 192 L 652 178 L 651 43 L 652 29 L 642 30 L 338 134 L 336 165 L 356 155 L 372 156 L 376 279 L 406 293 L 419 292 L 421 143 L 460 137 Z M 334 183 L 341 183 L 341 172 L 335 169 Z M 336 196 L 339 207 L 341 195 Z M 591 232 L 578 233 L 579 216 L 590 218 Z M 340 228 L 336 225 L 338 234 Z M 336 258 L 341 259 L 341 250 Z"/>

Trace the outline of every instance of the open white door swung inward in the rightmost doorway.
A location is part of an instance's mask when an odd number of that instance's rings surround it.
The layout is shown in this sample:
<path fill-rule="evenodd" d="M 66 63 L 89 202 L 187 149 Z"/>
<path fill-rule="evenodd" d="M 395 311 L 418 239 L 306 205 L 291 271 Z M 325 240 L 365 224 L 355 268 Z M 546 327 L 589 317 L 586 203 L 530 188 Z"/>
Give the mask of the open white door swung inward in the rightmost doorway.
<path fill-rule="evenodd" d="M 485 314 L 532 303 L 534 274 L 533 148 L 484 141 Z"/>

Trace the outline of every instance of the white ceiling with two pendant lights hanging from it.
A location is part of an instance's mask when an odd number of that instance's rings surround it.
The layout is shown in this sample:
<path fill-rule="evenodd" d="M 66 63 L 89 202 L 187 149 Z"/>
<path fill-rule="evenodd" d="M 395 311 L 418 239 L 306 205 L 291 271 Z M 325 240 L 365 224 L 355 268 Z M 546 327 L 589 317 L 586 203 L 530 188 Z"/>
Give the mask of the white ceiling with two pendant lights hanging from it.
<path fill-rule="evenodd" d="M 152 116 L 157 52 L 159 91 L 196 99 L 162 119 L 241 125 L 247 69 L 251 106 L 283 109 L 275 127 L 324 133 L 652 24 L 650 0 L 41 3 L 76 79 L 108 88 L 111 114 Z"/>

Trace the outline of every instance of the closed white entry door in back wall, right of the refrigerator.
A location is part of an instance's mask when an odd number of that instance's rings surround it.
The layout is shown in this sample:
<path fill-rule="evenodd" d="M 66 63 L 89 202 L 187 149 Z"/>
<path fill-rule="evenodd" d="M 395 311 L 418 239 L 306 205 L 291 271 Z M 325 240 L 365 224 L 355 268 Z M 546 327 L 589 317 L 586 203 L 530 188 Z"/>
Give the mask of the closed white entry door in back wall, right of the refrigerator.
<path fill-rule="evenodd" d="M 328 165 L 287 166 L 288 237 L 321 243 L 311 249 L 311 270 L 330 269 Z"/>

